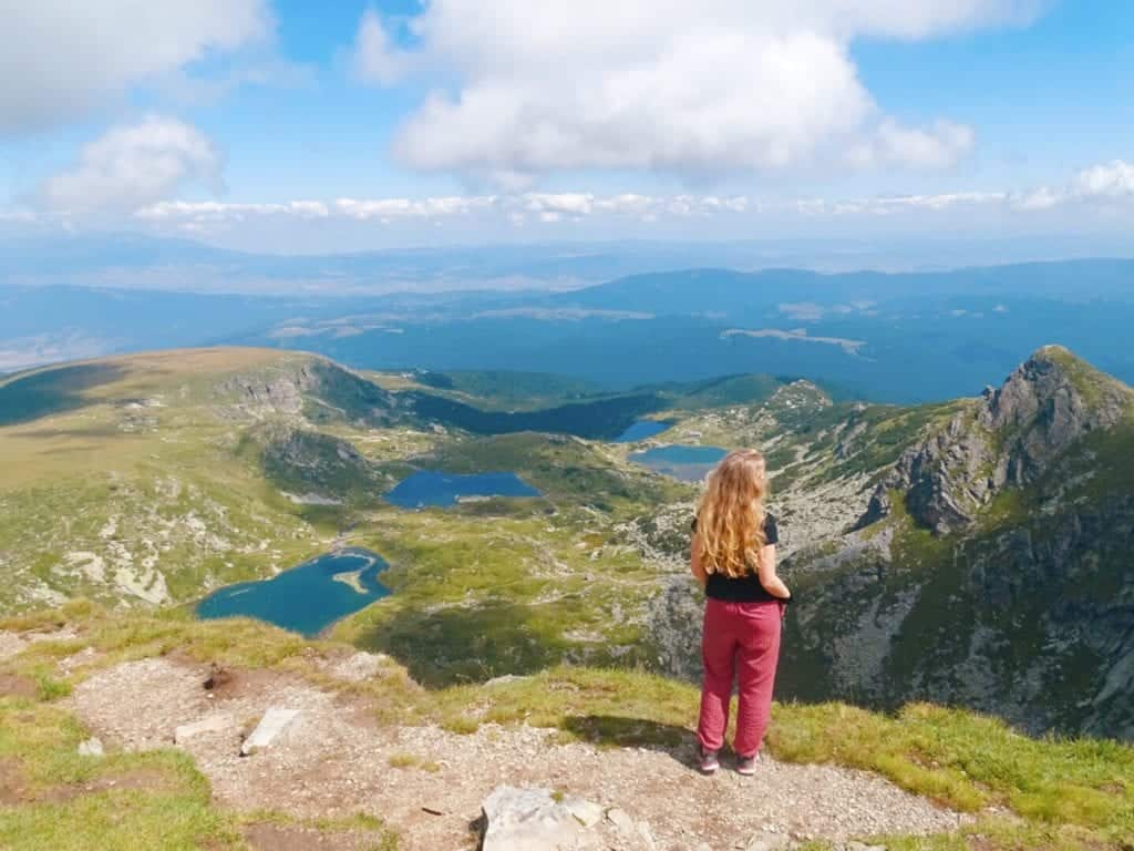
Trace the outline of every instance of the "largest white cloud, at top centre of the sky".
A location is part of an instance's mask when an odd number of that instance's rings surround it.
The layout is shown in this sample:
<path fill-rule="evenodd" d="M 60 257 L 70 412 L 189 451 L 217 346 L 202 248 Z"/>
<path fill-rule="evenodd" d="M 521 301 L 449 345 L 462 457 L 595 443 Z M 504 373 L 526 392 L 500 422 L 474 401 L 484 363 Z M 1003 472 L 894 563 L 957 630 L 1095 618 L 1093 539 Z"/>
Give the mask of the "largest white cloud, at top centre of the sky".
<path fill-rule="evenodd" d="M 1032 0 L 433 0 L 407 27 L 359 26 L 355 67 L 438 86 L 395 141 L 421 169 L 515 189 L 560 169 L 682 175 L 849 157 L 941 167 L 972 130 L 885 116 L 858 77 L 861 36 L 925 39 L 1026 19 Z"/>

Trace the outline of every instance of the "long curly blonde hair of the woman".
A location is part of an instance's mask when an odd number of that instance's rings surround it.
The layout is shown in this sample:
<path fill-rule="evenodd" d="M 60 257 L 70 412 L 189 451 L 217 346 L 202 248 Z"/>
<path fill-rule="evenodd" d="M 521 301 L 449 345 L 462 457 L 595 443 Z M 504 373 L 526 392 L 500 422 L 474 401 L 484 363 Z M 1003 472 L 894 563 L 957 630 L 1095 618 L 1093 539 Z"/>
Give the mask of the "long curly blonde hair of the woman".
<path fill-rule="evenodd" d="M 768 470 L 755 449 L 736 449 L 709 473 L 697 508 L 701 562 L 733 579 L 755 572 L 764 537 Z"/>

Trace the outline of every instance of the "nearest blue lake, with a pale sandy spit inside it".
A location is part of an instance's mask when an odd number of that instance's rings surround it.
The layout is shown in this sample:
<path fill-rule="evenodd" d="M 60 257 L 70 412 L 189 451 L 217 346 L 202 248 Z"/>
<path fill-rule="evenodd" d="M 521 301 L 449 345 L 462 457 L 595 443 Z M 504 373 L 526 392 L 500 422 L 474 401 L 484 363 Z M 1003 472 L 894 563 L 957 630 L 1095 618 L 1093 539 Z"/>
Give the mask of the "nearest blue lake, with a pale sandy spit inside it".
<path fill-rule="evenodd" d="M 218 589 L 197 604 L 197 616 L 255 617 L 315 635 L 388 596 L 389 589 L 378 581 L 386 566 L 381 556 L 364 549 L 330 553 L 272 579 Z"/>

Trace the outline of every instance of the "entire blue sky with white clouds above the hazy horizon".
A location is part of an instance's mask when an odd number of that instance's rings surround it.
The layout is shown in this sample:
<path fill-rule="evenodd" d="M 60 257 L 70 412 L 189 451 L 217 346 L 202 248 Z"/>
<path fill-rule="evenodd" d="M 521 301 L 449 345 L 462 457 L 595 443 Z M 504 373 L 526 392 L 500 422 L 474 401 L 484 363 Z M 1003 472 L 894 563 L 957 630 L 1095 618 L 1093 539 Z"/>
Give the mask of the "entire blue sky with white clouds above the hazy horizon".
<path fill-rule="evenodd" d="M 0 235 L 1122 251 L 1132 230 L 1118 0 L 88 6 L 0 11 Z"/>

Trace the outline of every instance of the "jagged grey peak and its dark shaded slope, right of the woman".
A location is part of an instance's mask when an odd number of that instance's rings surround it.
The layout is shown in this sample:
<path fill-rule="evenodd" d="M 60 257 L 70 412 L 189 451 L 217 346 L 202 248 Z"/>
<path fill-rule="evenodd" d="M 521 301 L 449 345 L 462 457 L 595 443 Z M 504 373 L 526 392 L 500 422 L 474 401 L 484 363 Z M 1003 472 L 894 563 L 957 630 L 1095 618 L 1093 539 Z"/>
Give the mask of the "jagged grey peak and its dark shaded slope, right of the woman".
<path fill-rule="evenodd" d="M 780 693 L 1134 739 L 1132 398 L 1047 347 L 906 449 L 802 566 Z"/>

